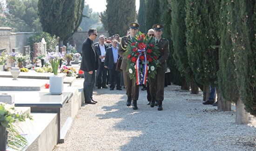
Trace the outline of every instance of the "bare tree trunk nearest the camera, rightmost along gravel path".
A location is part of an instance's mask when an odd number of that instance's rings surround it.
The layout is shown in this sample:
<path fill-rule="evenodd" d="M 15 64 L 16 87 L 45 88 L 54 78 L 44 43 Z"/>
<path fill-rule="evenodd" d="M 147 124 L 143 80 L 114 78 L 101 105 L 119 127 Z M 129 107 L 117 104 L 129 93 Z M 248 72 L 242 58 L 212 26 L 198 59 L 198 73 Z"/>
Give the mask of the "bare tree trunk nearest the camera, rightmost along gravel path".
<path fill-rule="evenodd" d="M 239 98 L 236 101 L 236 123 L 238 124 L 247 124 L 249 121 L 249 114 L 245 111 L 244 107 L 241 98 Z"/>

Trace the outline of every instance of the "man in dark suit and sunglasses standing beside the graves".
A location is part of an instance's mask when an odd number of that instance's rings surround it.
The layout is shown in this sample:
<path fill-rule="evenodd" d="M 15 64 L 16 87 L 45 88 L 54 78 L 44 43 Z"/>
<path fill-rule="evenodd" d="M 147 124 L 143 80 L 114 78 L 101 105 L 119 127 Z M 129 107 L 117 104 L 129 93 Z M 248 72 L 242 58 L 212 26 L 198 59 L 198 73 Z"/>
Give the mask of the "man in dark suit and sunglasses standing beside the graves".
<path fill-rule="evenodd" d="M 95 104 L 93 100 L 93 89 L 95 83 L 95 70 L 98 69 L 98 55 L 95 51 L 93 41 L 97 37 L 96 29 L 89 29 L 88 38 L 82 46 L 82 61 L 80 69 L 84 72 L 84 98 L 85 103 Z"/>

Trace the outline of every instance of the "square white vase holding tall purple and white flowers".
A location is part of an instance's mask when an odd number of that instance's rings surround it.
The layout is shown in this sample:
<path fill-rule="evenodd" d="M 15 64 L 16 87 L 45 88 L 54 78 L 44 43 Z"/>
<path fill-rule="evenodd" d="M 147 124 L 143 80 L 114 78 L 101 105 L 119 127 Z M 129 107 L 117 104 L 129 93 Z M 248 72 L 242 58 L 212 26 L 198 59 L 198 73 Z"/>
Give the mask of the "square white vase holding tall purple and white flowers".
<path fill-rule="evenodd" d="M 53 95 L 60 95 L 63 92 L 63 80 L 65 75 L 58 74 L 50 76 L 50 93 Z"/>

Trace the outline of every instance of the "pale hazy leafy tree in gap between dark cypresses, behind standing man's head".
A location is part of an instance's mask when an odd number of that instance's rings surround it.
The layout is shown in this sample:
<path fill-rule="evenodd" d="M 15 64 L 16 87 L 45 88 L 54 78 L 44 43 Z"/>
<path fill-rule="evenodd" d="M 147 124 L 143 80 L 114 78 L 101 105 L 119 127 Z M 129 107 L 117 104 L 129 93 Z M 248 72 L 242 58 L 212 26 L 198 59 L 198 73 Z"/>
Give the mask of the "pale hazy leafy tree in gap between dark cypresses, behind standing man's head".
<path fill-rule="evenodd" d="M 82 31 L 88 31 L 92 28 L 92 25 L 100 22 L 100 13 L 93 12 L 92 8 L 89 8 L 89 5 L 85 5 L 83 9 L 83 17 L 80 27 Z"/>

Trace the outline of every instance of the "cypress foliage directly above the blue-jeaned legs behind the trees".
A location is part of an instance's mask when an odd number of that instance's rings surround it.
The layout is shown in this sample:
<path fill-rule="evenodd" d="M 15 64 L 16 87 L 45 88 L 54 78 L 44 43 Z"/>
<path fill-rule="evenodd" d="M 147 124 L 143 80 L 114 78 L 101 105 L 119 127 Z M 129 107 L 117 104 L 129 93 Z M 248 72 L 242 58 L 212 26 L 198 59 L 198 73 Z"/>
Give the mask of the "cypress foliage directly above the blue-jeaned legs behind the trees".
<path fill-rule="evenodd" d="M 187 52 L 189 66 L 195 80 L 201 85 L 216 85 L 218 49 L 216 23 L 219 17 L 220 0 L 187 0 Z"/>

